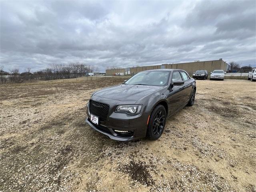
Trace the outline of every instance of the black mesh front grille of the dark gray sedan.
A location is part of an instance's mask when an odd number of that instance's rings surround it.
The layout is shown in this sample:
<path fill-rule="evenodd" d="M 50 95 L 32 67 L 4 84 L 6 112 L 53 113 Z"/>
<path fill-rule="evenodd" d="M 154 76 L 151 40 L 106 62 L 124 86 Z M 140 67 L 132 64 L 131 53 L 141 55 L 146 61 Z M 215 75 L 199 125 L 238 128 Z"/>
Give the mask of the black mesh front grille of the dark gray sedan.
<path fill-rule="evenodd" d="M 90 114 L 93 114 L 99 118 L 99 121 L 106 121 L 109 111 L 109 105 L 90 100 L 89 103 Z"/>

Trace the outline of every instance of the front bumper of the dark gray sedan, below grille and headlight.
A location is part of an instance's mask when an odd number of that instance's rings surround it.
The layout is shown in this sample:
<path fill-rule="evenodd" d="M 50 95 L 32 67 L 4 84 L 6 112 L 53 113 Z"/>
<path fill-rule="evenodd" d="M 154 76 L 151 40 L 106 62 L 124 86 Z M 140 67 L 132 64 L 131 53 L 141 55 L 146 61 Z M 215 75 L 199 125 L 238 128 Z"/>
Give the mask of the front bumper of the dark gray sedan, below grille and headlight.
<path fill-rule="evenodd" d="M 86 105 L 86 123 L 88 123 L 94 130 L 108 136 L 113 140 L 118 141 L 130 141 L 136 140 L 138 138 L 143 138 L 146 136 L 147 130 L 147 120 L 148 114 L 145 112 L 145 109 L 142 107 L 140 114 L 138 115 L 128 115 L 125 113 L 116 113 L 114 110 L 117 105 L 122 105 L 124 103 L 116 100 L 92 97 L 92 100 L 97 102 L 103 102 L 110 105 L 109 113 L 106 121 L 99 122 L 99 125 L 96 125 L 90 121 L 90 112 L 88 104 Z M 126 104 L 132 104 L 127 103 Z M 133 103 L 134 104 L 134 103 Z M 117 131 L 127 131 L 128 133 L 120 133 Z"/>

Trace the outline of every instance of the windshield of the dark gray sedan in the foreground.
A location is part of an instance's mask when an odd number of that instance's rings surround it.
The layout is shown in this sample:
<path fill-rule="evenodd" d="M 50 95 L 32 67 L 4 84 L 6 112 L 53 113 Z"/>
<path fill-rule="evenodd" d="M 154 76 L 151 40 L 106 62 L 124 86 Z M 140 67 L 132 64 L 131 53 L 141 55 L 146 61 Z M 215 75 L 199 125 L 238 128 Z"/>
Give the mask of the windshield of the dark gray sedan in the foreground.
<path fill-rule="evenodd" d="M 140 72 L 128 79 L 124 84 L 164 86 L 168 84 L 169 71 Z"/>

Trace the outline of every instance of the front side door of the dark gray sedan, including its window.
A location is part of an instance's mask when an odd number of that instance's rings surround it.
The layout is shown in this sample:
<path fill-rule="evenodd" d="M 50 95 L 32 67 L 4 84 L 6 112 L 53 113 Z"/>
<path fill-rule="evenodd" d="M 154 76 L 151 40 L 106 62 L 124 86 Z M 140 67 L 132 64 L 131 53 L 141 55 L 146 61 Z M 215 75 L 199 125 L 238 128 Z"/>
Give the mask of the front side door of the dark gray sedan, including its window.
<path fill-rule="evenodd" d="M 166 94 L 169 108 L 168 114 L 170 115 L 173 115 L 183 106 L 184 97 L 186 97 L 186 91 L 183 89 L 184 85 L 173 85 L 172 82 L 174 81 L 182 81 L 181 74 L 178 70 L 172 72 L 170 88 Z"/>

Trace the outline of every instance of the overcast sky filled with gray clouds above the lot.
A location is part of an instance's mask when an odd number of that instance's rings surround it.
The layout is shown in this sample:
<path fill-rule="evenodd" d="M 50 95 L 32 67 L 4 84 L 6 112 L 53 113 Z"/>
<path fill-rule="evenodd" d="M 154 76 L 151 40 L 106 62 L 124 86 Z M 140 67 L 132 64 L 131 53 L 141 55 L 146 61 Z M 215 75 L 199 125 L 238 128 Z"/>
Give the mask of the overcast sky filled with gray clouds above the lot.
<path fill-rule="evenodd" d="M 8 71 L 84 62 L 101 72 L 194 60 L 256 66 L 256 1 L 0 1 Z"/>

